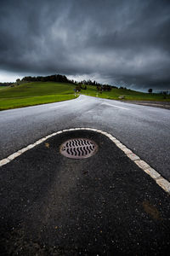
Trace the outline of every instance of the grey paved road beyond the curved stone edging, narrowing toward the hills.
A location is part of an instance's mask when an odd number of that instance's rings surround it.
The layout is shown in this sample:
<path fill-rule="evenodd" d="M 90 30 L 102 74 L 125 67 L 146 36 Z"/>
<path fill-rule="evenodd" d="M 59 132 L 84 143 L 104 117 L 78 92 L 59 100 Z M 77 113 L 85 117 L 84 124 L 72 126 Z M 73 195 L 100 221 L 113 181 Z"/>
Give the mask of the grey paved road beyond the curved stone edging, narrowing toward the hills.
<path fill-rule="evenodd" d="M 54 131 L 91 127 L 111 133 L 170 181 L 170 112 L 90 96 L 0 112 L 0 160 Z"/>

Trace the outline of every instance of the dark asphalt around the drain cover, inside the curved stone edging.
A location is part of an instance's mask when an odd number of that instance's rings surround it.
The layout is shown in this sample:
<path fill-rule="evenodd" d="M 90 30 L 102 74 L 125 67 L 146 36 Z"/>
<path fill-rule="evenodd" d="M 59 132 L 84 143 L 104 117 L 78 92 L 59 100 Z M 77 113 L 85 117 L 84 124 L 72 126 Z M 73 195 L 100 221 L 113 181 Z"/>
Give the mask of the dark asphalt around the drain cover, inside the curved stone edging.
<path fill-rule="evenodd" d="M 93 139 L 98 153 L 59 154 L 73 137 Z M 1 255 L 169 255 L 169 195 L 99 133 L 51 137 L 0 177 Z"/>

